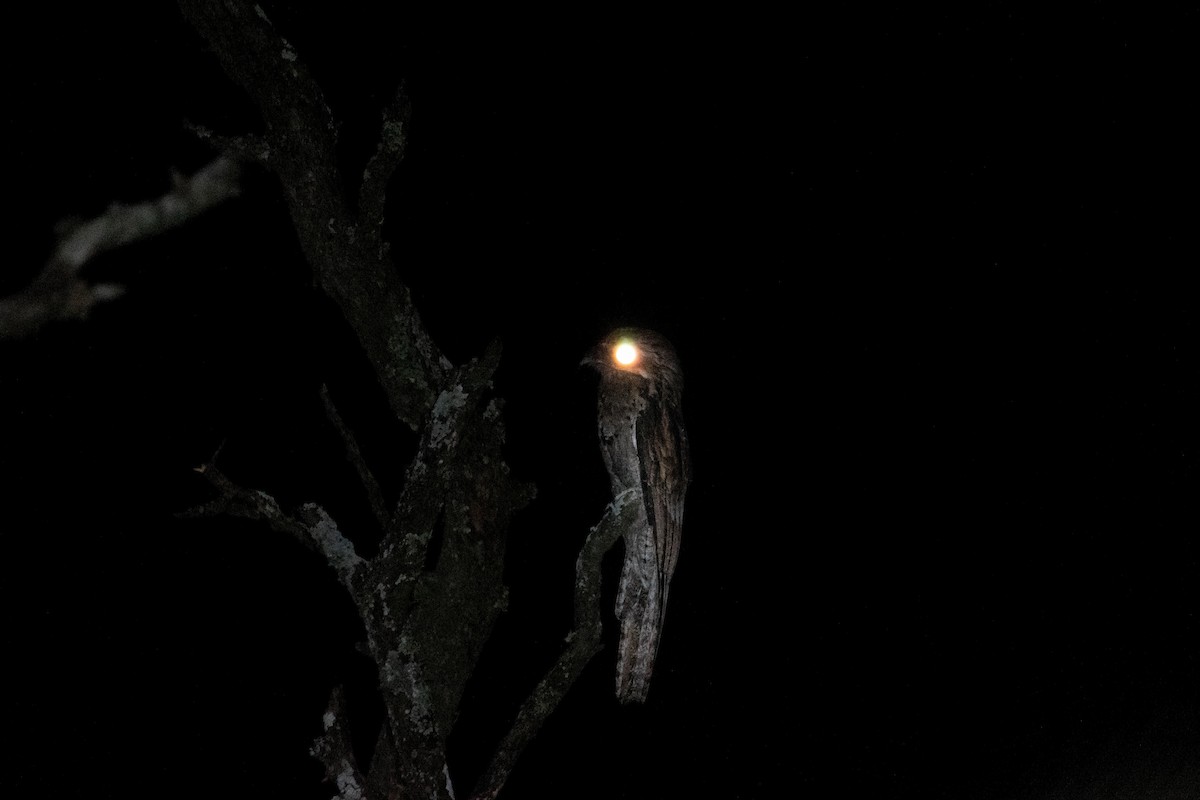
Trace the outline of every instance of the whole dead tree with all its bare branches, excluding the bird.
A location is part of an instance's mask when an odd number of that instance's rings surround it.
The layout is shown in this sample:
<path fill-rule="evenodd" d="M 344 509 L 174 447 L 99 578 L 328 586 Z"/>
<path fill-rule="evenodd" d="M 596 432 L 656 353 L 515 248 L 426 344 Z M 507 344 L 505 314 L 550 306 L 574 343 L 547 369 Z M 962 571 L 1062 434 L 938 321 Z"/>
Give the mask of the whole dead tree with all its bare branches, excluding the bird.
<path fill-rule="evenodd" d="M 509 522 L 533 498 L 530 486 L 510 476 L 502 452 L 502 402 L 492 386 L 499 343 L 468 363 L 452 365 L 421 323 L 400 278 L 401 265 L 383 240 L 388 187 L 407 138 L 403 89 L 383 110 L 378 145 L 361 178 L 347 180 L 337 155 L 338 122 L 262 7 L 246 0 L 179 0 L 179 6 L 224 72 L 250 95 L 265 132 L 217 136 L 192 126 L 227 148 L 226 154 L 156 201 L 114 206 L 66 233 L 40 282 L 16 305 L 0 305 L 0 335 L 84 315 L 114 289 L 88 287 L 78 278 L 79 267 L 103 249 L 181 224 L 235 194 L 239 158 L 274 172 L 317 287 L 341 309 L 391 411 L 418 433 L 418 451 L 394 494 L 398 501 L 386 509 L 383 487 L 353 433 L 323 395 L 379 525 L 382 542 L 370 559 L 323 507 L 308 503 L 286 511 L 271 495 L 229 480 L 215 457 L 198 471 L 216 498 L 187 516 L 265 523 L 320 554 L 353 597 L 378 668 L 385 723 L 364 771 L 350 746 L 341 691 L 332 692 L 313 754 L 338 796 L 449 800 L 446 741 L 467 681 L 506 607 Z M 480 783 L 481 798 L 500 790 L 520 753 L 601 646 L 600 560 L 636 507 L 630 495 L 637 493 L 618 497 L 588 536 L 576 565 L 575 628 L 500 742 Z"/>

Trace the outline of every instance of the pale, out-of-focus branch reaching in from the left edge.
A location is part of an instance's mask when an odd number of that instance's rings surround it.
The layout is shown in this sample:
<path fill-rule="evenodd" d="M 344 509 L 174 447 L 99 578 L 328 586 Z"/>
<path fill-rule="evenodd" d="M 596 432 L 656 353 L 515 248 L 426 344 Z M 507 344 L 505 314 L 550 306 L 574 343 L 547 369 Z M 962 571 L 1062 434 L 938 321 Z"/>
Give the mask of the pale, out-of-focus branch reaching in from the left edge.
<path fill-rule="evenodd" d="M 221 156 L 191 178 L 179 178 L 162 197 L 112 205 L 98 217 L 60 225 L 54 252 L 24 290 L 0 299 L 0 338 L 17 338 L 65 319 L 84 319 L 121 287 L 90 284 L 79 271 L 100 253 L 157 236 L 196 218 L 240 191 L 238 163 Z"/>

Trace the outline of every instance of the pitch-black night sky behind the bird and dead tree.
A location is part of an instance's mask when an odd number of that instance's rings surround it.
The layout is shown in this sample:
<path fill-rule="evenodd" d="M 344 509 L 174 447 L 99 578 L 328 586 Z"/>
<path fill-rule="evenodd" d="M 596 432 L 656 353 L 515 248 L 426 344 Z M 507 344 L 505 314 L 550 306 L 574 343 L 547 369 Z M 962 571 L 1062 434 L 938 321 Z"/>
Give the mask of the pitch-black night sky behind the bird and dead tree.
<path fill-rule="evenodd" d="M 454 769 L 566 632 L 607 500 L 577 363 L 636 324 L 679 349 L 696 461 L 658 673 L 618 706 L 601 654 L 506 798 L 1196 796 L 1194 13 L 293 5 L 263 4 L 347 164 L 408 82 L 394 252 L 455 362 L 504 342 L 539 487 Z M 58 221 L 204 164 L 185 119 L 256 124 L 170 4 L 34 13 L 4 291 Z M 174 515 L 224 443 L 353 535 L 319 385 L 385 479 L 404 433 L 269 175 L 88 273 L 127 294 L 0 345 L 0 795 L 325 798 L 353 609 L 294 542 Z"/>

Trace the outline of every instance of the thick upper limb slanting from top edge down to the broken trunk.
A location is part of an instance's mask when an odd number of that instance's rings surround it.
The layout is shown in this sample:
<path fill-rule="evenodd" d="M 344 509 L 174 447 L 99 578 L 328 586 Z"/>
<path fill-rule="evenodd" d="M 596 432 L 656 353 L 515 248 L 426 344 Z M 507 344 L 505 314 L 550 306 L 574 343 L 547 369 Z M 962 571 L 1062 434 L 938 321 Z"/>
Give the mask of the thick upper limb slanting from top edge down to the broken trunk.
<path fill-rule="evenodd" d="M 373 218 L 361 216 L 347 200 L 337 166 L 337 122 L 295 48 L 276 32 L 260 6 L 244 0 L 179 0 L 179 6 L 212 44 L 226 73 L 258 106 L 271 168 L 284 186 L 313 275 L 358 336 L 392 410 L 416 431 L 451 365 L 385 258 L 376 207 L 383 184 L 361 197 L 372 206 Z M 388 164 L 402 154 L 403 128 L 396 125 L 401 119 L 385 130 L 380 144 L 385 155 L 373 175 L 390 173 Z"/>

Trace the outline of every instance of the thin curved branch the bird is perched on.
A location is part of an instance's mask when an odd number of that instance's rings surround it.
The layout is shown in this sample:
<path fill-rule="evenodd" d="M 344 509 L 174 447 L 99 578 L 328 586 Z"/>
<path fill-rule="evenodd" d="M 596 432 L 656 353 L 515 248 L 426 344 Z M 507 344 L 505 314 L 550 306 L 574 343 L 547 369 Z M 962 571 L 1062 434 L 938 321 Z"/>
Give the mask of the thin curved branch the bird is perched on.
<path fill-rule="evenodd" d="M 626 489 L 617 495 L 588 534 L 575 563 L 575 627 L 566 649 L 541 679 L 517 712 L 487 770 L 475 784 L 472 800 L 494 800 L 529 741 L 538 734 L 584 667 L 600 652 L 604 622 L 600 614 L 600 564 L 617 540 L 637 523 L 642 493 Z"/>

